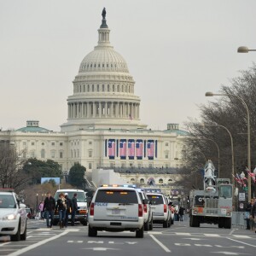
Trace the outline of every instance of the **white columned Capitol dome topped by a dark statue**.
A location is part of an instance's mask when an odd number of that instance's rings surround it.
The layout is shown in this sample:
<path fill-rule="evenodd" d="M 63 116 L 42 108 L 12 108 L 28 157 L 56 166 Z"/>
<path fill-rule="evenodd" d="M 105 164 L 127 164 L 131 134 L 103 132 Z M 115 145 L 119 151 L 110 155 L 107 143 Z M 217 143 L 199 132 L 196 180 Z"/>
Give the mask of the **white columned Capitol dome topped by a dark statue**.
<path fill-rule="evenodd" d="M 105 11 L 105 9 L 103 10 Z M 98 29 L 98 44 L 86 55 L 67 98 L 67 123 L 61 131 L 145 128 L 140 124 L 140 98 L 125 59 L 109 41 L 106 13 Z"/>

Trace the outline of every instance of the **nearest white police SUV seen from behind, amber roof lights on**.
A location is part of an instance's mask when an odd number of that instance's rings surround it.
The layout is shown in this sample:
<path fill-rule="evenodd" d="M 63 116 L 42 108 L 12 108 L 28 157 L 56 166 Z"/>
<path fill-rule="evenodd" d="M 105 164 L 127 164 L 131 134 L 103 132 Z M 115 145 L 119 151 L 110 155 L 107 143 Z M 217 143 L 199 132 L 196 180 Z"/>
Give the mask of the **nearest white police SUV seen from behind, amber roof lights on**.
<path fill-rule="evenodd" d="M 97 236 L 98 230 L 130 230 L 143 238 L 143 203 L 137 189 L 110 185 L 96 189 L 90 203 L 88 236 Z"/>

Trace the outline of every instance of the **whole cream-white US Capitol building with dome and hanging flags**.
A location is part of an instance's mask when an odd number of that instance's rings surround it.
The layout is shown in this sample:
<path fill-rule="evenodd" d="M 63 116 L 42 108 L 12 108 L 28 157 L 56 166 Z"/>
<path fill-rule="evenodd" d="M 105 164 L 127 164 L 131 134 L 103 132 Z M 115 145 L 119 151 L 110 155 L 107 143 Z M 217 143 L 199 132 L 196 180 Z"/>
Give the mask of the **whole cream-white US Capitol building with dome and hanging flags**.
<path fill-rule="evenodd" d="M 140 119 L 140 97 L 125 59 L 110 44 L 106 12 L 98 29 L 98 44 L 84 57 L 67 97 L 67 122 L 49 131 L 38 120 L 26 127 L 0 131 L 1 143 L 15 143 L 24 158 L 55 160 L 67 173 L 75 162 L 113 169 L 127 182 L 172 183 L 182 166 L 185 131 L 168 124 L 165 131 L 147 129 Z M 150 180 L 151 178 L 151 180 Z"/>

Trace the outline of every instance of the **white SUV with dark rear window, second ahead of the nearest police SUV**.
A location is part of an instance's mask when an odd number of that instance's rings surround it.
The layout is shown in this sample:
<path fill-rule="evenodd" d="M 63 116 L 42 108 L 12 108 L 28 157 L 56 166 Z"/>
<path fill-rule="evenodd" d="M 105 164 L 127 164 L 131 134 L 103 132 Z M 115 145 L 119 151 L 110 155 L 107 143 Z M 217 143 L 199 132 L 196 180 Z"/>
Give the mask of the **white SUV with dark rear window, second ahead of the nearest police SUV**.
<path fill-rule="evenodd" d="M 153 223 L 163 224 L 163 228 L 171 226 L 171 212 L 166 196 L 159 193 L 147 193 L 153 212 Z"/>

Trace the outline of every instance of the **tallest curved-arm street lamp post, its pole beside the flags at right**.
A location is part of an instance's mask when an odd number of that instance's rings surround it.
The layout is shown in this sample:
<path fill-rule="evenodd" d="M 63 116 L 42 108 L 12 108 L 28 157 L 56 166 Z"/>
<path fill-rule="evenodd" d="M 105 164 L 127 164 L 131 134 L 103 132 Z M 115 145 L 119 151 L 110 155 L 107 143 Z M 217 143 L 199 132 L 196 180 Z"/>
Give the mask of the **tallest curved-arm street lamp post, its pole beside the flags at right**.
<path fill-rule="evenodd" d="M 251 133 L 250 133 L 250 113 L 247 107 L 247 103 L 240 97 L 234 94 L 217 94 L 211 91 L 206 92 L 206 96 L 232 96 L 239 99 L 247 110 L 247 168 L 251 172 Z M 251 177 L 248 178 L 248 201 L 251 201 Z"/>

